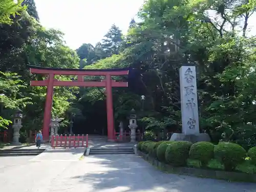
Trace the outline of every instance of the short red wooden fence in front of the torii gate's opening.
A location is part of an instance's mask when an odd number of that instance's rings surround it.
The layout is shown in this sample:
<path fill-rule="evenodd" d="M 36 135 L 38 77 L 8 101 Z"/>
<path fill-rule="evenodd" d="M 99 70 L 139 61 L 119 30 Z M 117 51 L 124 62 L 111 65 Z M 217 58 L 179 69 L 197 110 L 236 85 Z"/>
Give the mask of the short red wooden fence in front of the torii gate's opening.
<path fill-rule="evenodd" d="M 84 142 L 86 143 L 86 145 L 84 145 Z M 88 147 L 88 134 L 86 136 L 84 135 L 77 135 L 77 136 L 63 136 L 63 135 L 52 135 L 51 137 L 51 145 L 53 148 L 55 147 Z"/>

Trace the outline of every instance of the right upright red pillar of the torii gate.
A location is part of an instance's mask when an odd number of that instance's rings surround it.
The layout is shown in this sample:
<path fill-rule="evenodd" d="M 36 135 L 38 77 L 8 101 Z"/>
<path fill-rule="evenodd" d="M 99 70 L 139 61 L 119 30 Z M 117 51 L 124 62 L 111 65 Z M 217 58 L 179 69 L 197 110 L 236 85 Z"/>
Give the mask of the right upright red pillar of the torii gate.
<path fill-rule="evenodd" d="M 108 120 L 108 139 L 114 140 L 114 112 L 113 112 L 113 98 L 111 75 L 106 75 L 106 111 Z"/>

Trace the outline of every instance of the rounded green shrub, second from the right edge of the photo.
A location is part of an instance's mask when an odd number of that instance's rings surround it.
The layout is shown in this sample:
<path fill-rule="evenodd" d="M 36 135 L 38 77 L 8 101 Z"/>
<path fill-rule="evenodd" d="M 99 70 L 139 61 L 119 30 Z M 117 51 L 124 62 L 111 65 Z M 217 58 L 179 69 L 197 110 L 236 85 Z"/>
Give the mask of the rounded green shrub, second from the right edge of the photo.
<path fill-rule="evenodd" d="M 245 160 L 246 151 L 238 144 L 220 142 L 214 148 L 214 156 L 221 161 L 225 170 L 234 170 Z"/>

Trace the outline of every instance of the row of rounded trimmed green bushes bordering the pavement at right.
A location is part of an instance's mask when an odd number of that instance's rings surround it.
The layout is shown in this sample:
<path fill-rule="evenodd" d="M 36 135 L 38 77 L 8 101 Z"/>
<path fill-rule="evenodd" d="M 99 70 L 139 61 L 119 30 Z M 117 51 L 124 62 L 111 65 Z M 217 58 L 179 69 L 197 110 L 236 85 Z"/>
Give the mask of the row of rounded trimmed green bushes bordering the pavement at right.
<path fill-rule="evenodd" d="M 141 141 L 137 147 L 139 151 L 173 166 L 223 167 L 243 173 L 250 173 L 251 170 L 254 173 L 256 170 L 256 146 L 250 148 L 248 153 L 242 146 L 230 142 L 214 145 L 210 142 Z M 252 168 L 248 169 L 248 166 Z"/>

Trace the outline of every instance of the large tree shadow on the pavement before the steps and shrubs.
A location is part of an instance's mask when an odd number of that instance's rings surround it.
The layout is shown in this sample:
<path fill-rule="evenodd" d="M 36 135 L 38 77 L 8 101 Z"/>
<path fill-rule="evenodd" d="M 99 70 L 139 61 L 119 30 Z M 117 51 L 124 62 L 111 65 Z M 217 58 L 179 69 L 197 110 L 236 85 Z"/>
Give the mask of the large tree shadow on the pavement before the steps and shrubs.
<path fill-rule="evenodd" d="M 94 191 L 173 191 L 173 192 L 249 192 L 256 191 L 253 183 L 232 183 L 166 174 L 136 155 L 101 155 L 84 159 L 87 173 L 71 177 L 93 185 Z M 122 189 L 121 189 L 121 188 Z M 114 189 L 116 188 L 116 189 Z M 117 190 L 119 188 L 119 190 Z"/>

